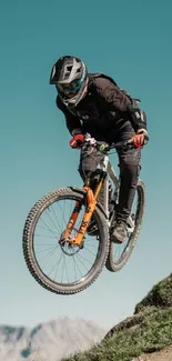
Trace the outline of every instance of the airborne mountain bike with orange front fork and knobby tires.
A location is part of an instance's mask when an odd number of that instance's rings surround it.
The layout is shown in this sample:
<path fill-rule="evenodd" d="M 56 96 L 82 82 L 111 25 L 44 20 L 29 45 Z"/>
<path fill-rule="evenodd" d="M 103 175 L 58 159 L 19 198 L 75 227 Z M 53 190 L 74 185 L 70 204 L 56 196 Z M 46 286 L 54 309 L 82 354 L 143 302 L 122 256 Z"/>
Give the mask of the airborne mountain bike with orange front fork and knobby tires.
<path fill-rule="evenodd" d="M 23 228 L 23 255 L 32 277 L 47 290 L 72 294 L 88 288 L 103 267 L 123 268 L 139 237 L 145 187 L 139 180 L 127 240 L 117 244 L 110 234 L 119 201 L 120 178 L 110 162 L 112 149 L 134 147 L 132 140 L 117 144 L 97 142 L 103 158 L 83 187 L 59 188 L 42 197 L 30 210 Z"/>

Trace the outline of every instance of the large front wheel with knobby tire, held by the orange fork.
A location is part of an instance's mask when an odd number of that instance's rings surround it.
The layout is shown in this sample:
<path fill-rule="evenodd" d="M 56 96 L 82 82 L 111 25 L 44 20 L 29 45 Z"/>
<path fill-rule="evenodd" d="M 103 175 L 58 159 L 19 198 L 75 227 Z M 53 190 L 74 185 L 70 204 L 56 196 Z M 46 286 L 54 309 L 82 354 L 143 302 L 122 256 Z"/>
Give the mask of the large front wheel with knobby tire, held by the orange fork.
<path fill-rule="evenodd" d="M 23 255 L 32 277 L 47 290 L 77 293 L 88 288 L 100 274 L 109 252 L 108 223 L 95 208 L 99 240 L 85 234 L 82 248 L 60 243 L 75 201 L 81 203 L 73 238 L 85 212 L 85 192 L 71 188 L 57 189 L 39 200 L 28 214 L 23 229 Z"/>

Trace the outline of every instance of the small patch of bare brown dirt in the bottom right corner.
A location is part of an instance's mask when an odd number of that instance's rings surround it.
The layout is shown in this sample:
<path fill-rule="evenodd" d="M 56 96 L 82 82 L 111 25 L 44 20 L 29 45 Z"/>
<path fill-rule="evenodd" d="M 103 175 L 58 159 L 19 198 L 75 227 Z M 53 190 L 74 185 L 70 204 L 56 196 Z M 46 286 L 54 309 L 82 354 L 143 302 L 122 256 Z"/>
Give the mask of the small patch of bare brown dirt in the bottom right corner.
<path fill-rule="evenodd" d="M 132 361 L 172 361 L 172 345 L 153 353 L 143 353 Z"/>

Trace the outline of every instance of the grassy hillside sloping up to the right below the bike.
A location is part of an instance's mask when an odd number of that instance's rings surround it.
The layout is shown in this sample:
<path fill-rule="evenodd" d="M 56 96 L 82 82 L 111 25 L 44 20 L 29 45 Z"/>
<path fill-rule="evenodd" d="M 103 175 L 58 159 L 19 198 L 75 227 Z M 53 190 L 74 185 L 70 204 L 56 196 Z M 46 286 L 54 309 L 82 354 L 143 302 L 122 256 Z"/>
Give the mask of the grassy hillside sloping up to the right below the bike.
<path fill-rule="evenodd" d="M 112 328 L 90 351 L 63 361 L 131 361 L 172 344 L 172 274 L 153 287 L 133 317 Z"/>

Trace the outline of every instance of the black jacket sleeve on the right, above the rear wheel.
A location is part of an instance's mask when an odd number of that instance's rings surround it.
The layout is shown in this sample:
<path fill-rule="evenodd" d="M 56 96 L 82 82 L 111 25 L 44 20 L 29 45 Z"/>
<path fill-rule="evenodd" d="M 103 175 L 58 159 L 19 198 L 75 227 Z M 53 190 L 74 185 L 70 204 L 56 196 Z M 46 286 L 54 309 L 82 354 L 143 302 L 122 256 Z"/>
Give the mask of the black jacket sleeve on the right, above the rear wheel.
<path fill-rule="evenodd" d="M 99 92 L 102 101 L 105 102 L 107 109 L 120 110 L 129 112 L 130 118 L 135 131 L 139 129 L 146 129 L 146 116 L 136 104 L 131 102 L 130 99 L 109 79 L 97 79 L 97 91 Z"/>

